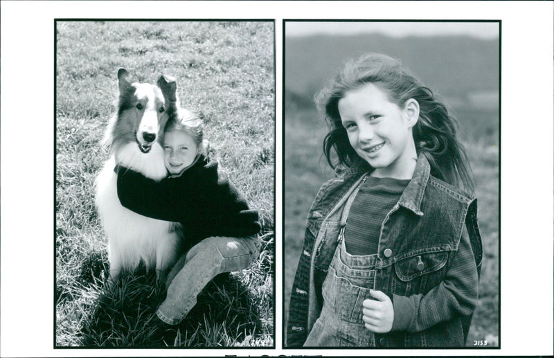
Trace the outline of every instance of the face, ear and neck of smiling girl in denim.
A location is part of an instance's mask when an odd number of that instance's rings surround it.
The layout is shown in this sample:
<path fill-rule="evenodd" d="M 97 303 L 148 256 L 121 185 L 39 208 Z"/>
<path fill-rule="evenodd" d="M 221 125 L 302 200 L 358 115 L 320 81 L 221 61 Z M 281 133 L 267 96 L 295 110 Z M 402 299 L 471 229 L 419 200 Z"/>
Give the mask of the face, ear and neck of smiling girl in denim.
<path fill-rule="evenodd" d="M 411 179 L 417 160 L 411 130 L 419 117 L 417 101 L 410 99 L 400 108 L 375 84 L 366 83 L 346 92 L 338 108 L 350 145 L 375 168 L 373 176 Z"/>

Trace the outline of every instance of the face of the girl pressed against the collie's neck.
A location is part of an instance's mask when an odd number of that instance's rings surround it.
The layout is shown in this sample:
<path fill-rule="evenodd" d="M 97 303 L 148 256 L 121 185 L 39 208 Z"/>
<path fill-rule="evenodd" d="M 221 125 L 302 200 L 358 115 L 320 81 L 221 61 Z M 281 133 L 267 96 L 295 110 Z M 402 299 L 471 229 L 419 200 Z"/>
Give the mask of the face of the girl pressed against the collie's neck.
<path fill-rule="evenodd" d="M 190 134 L 170 130 L 163 137 L 163 159 L 171 174 L 180 174 L 195 161 L 198 145 Z"/>

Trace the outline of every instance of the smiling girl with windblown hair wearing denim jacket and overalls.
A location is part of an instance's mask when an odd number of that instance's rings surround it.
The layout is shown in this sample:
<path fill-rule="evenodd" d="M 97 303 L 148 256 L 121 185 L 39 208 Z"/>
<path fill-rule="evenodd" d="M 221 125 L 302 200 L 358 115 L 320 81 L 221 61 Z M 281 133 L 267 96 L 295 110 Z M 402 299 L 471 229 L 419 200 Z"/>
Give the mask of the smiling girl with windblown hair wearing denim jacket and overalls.
<path fill-rule="evenodd" d="M 482 245 L 456 123 L 399 61 L 350 61 L 316 98 L 337 177 L 307 218 L 287 346 L 464 346 Z"/>

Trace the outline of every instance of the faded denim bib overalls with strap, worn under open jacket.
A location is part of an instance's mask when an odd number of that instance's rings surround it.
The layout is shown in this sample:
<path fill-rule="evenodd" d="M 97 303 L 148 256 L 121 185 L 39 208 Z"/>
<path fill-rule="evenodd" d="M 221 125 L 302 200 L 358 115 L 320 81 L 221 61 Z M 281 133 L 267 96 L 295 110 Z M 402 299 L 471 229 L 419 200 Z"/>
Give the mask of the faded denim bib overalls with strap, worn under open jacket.
<path fill-rule="evenodd" d="M 323 307 L 304 343 L 306 347 L 375 346 L 375 335 L 362 321 L 361 303 L 372 299 L 369 290 L 375 284 L 377 254 L 353 256 L 346 252 L 344 243 L 350 206 L 365 180 L 366 176 L 348 197 L 343 208 L 337 249 L 323 282 Z"/>

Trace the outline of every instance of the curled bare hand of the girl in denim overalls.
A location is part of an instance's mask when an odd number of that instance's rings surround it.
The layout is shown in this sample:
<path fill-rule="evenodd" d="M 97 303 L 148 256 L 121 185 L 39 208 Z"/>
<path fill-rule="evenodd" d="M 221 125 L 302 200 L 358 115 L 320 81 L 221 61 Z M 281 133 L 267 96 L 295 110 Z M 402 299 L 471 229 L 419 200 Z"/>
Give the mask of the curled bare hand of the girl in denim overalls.
<path fill-rule="evenodd" d="M 390 332 L 393 328 L 394 309 L 391 298 L 388 298 L 382 291 L 369 290 L 369 294 L 375 300 L 364 300 L 364 317 L 366 328 L 375 333 Z"/>

